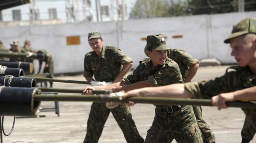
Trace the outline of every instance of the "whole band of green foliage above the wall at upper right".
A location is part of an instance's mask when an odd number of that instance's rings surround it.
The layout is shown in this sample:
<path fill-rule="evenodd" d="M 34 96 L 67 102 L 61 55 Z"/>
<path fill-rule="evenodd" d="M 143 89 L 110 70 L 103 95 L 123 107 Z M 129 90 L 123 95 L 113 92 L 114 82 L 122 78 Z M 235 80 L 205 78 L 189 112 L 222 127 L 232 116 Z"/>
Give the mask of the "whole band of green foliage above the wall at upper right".
<path fill-rule="evenodd" d="M 169 2 L 168 2 L 169 1 Z M 237 0 L 137 0 L 130 18 L 152 18 L 238 11 Z M 256 11 L 256 0 L 245 0 L 245 11 Z"/>

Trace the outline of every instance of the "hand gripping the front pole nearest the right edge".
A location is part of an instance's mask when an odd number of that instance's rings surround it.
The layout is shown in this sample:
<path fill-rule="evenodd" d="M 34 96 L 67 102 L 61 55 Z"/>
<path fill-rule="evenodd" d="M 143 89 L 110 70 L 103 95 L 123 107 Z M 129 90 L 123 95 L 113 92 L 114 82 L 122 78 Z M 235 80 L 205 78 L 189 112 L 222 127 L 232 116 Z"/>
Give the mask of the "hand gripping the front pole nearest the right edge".
<path fill-rule="evenodd" d="M 221 93 L 217 96 L 211 98 L 211 104 L 217 106 L 219 110 L 223 108 L 228 108 L 226 101 L 235 101 L 233 92 Z"/>

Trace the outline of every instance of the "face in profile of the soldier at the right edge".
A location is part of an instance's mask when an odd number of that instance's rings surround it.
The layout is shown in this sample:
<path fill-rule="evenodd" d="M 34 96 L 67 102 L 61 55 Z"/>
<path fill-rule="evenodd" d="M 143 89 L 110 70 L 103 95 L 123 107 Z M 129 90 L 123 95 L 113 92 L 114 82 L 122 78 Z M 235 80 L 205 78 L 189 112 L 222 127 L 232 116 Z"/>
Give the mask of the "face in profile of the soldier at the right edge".
<path fill-rule="evenodd" d="M 230 47 L 231 56 L 234 56 L 239 66 L 256 65 L 256 38 L 253 40 L 249 34 L 232 38 Z"/>

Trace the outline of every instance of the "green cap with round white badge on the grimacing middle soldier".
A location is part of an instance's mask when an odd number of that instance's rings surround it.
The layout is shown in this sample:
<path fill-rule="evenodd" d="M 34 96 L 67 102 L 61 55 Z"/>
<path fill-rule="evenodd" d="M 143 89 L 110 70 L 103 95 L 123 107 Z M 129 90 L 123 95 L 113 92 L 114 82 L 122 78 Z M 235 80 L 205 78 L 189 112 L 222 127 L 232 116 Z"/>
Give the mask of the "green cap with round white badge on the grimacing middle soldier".
<path fill-rule="evenodd" d="M 164 34 L 158 35 L 148 35 L 147 36 L 147 50 L 168 50 L 169 47 L 166 45 L 166 40 Z"/>

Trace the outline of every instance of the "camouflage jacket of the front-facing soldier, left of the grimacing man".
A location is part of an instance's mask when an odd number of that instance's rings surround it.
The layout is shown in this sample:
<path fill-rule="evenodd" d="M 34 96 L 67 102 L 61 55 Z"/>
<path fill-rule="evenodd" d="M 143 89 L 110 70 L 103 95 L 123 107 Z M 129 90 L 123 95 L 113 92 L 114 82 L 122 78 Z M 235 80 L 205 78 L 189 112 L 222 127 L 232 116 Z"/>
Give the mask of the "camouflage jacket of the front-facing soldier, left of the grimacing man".
<path fill-rule="evenodd" d="M 132 62 L 120 49 L 112 46 L 103 46 L 99 57 L 95 51 L 84 56 L 84 77 L 92 77 L 96 81 L 112 82 L 118 76 L 122 65 Z"/>

